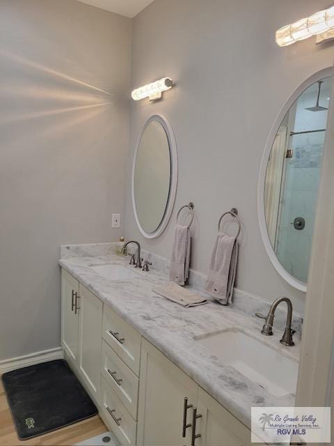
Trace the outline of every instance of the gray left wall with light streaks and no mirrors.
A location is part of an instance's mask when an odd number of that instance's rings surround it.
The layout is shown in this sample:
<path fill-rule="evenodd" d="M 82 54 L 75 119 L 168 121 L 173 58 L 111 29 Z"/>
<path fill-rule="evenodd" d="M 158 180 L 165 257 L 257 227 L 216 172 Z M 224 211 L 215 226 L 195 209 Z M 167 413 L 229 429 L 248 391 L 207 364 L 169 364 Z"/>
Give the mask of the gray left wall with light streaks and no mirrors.
<path fill-rule="evenodd" d="M 73 0 L 0 1 L 1 359 L 60 345 L 59 246 L 120 236 L 131 33 Z"/>

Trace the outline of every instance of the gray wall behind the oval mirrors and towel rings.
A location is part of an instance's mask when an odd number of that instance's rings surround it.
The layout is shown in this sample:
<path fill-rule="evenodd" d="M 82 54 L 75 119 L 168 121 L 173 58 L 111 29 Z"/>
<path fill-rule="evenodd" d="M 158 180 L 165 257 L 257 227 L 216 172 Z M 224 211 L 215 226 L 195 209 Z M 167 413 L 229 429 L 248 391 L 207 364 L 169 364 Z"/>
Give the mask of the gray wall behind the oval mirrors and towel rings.
<path fill-rule="evenodd" d="M 193 201 L 192 266 L 207 272 L 218 217 L 236 206 L 243 222 L 237 286 L 268 300 L 305 295 L 280 278 L 267 256 L 257 220 L 257 178 L 276 116 L 292 92 L 333 64 L 333 44 L 311 38 L 290 47 L 276 29 L 328 7 L 327 0 L 155 0 L 134 18 L 132 86 L 170 76 L 175 88 L 154 104 L 132 102 L 126 235 L 170 256 L 173 224 L 156 240 L 136 228 L 130 172 L 136 138 L 151 114 L 173 126 L 179 156 L 177 209 Z"/>

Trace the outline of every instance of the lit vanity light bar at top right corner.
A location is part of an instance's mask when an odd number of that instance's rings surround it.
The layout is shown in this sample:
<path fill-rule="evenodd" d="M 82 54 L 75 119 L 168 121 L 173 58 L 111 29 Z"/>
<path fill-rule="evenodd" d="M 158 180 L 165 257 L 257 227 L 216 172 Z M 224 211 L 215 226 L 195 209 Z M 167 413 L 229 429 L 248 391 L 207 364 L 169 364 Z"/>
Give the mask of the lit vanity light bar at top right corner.
<path fill-rule="evenodd" d="M 276 43 L 280 47 L 286 47 L 298 40 L 304 40 L 312 36 L 326 33 L 334 28 L 334 6 L 329 9 L 319 11 L 298 20 L 289 25 L 285 25 L 276 31 Z"/>

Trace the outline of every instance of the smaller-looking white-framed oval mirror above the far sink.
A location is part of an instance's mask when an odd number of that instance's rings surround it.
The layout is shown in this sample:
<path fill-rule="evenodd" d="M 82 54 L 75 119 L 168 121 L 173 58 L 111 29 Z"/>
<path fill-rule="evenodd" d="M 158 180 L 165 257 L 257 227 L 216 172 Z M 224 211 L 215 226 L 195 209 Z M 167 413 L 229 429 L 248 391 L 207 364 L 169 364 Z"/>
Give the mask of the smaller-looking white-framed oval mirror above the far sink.
<path fill-rule="evenodd" d="M 173 210 L 177 153 L 173 130 L 159 115 L 143 126 L 134 155 L 132 199 L 138 228 L 146 238 L 159 236 Z"/>

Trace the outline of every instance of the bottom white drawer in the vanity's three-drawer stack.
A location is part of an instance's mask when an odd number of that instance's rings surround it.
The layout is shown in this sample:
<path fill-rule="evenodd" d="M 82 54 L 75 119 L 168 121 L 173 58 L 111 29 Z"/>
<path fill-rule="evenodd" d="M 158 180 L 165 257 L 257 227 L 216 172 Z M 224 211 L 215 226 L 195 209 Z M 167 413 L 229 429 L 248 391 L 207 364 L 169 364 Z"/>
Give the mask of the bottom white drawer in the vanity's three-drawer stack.
<path fill-rule="evenodd" d="M 115 433 L 123 446 L 136 445 L 137 423 L 103 377 L 101 378 L 101 394 L 102 413 L 106 425 Z"/>

